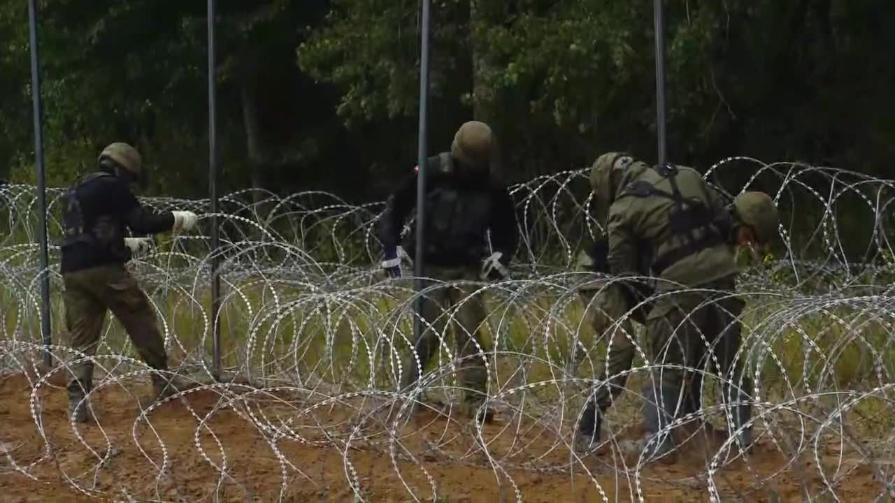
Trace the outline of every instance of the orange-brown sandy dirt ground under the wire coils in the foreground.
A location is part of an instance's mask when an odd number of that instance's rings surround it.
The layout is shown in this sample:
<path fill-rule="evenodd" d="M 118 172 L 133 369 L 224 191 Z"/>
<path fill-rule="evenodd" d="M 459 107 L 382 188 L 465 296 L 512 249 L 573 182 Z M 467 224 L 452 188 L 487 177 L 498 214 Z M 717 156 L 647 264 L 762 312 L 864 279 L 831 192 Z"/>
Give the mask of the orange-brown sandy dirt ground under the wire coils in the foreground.
<path fill-rule="evenodd" d="M 98 424 L 73 429 L 60 377 L 35 393 L 33 376 L 0 377 L 3 501 L 710 500 L 704 436 L 675 463 L 626 470 L 633 460 L 610 447 L 578 462 L 567 439 L 512 418 L 476 439 L 468 422 L 426 412 L 389 435 L 372 416 L 356 419 L 360 403 L 308 411 L 276 390 L 200 388 L 140 418 L 141 380 L 101 388 Z M 871 470 L 842 454 L 824 453 L 818 467 L 813 453 L 789 462 L 765 442 L 712 480 L 721 500 L 803 501 L 825 489 L 824 476 L 844 501 L 879 494 Z"/>

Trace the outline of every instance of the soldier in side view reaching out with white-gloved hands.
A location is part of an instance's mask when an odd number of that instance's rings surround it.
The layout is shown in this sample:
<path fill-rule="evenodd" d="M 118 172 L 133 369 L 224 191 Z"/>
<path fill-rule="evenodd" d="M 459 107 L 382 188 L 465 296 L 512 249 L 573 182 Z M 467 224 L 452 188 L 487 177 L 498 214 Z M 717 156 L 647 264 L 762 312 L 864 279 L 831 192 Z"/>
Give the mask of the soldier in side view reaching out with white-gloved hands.
<path fill-rule="evenodd" d="M 142 360 L 167 370 L 165 343 L 158 332 L 149 299 L 124 264 L 149 248 L 149 238 L 124 237 L 125 227 L 136 234 L 179 233 L 195 226 L 190 211 L 156 213 L 141 206 L 131 185 L 141 178 L 140 153 L 126 143 L 112 143 L 98 158 L 98 171 L 82 177 L 64 195 L 64 242 L 61 272 L 64 281 L 65 324 L 72 349 L 96 354 L 106 312 L 119 320 Z M 68 381 L 72 422 L 87 422 L 93 362 L 71 365 Z M 144 405 L 177 392 L 163 373 L 152 374 L 153 396 Z M 170 385 L 170 386 L 169 386 Z"/>

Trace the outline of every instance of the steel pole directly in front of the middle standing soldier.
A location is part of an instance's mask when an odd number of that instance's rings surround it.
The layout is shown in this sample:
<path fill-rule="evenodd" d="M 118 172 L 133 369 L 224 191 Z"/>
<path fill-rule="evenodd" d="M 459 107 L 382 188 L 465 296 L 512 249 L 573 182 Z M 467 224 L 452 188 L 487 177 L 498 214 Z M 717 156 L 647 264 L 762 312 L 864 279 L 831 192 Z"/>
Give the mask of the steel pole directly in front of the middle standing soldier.
<path fill-rule="evenodd" d="M 417 152 L 417 166 L 420 166 L 416 184 L 416 257 L 413 260 L 413 276 L 416 277 L 414 286 L 416 290 L 416 302 L 414 307 L 416 316 L 413 320 L 413 340 L 420 340 L 422 335 L 422 275 L 423 253 L 426 236 L 422 225 L 425 217 L 423 201 L 426 197 L 426 158 L 428 158 L 427 137 L 429 134 L 429 8 L 430 0 L 422 0 L 421 20 L 421 48 L 420 48 L 420 132 Z"/>

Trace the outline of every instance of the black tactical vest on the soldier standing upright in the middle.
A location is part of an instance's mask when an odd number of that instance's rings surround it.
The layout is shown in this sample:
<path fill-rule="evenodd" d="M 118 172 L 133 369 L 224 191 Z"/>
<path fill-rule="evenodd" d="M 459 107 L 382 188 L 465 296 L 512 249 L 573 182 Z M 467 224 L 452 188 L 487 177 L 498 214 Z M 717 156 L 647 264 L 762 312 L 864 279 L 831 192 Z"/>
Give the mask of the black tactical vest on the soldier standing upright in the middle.
<path fill-rule="evenodd" d="M 432 166 L 434 165 L 434 166 Z M 488 252 L 492 201 L 490 185 L 457 183 L 453 159 L 439 154 L 436 176 L 424 200 L 425 255 L 433 265 L 478 264 Z"/>

